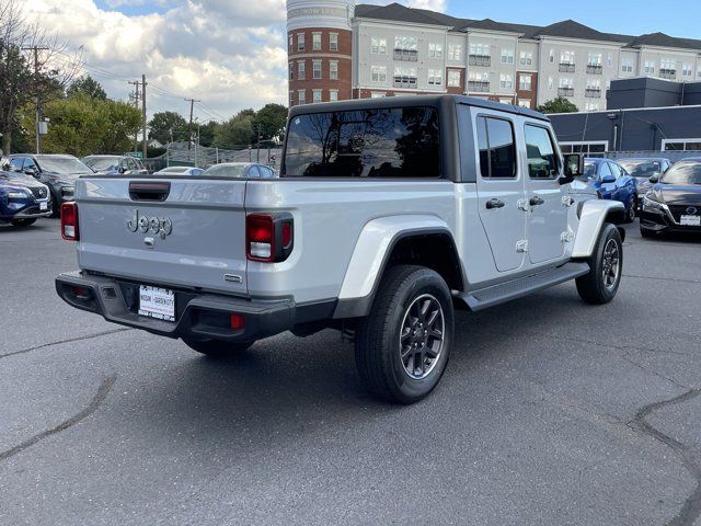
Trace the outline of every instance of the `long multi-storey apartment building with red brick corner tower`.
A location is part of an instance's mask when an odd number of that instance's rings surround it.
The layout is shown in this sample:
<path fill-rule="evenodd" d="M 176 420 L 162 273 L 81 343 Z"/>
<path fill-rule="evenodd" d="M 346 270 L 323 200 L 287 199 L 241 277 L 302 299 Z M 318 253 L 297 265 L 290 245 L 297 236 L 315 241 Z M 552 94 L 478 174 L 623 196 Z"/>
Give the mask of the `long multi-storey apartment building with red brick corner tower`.
<path fill-rule="evenodd" d="M 701 80 L 701 41 L 457 19 L 399 3 L 288 0 L 290 105 L 460 93 L 525 107 L 606 110 L 611 80 Z"/>

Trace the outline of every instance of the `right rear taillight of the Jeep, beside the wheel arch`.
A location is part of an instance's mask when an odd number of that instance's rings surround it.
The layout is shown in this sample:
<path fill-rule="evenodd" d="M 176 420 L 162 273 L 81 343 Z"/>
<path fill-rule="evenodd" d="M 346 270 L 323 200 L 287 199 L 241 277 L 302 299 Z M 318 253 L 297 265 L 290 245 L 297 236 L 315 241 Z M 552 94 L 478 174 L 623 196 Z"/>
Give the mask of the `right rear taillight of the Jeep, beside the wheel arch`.
<path fill-rule="evenodd" d="M 276 263 L 292 252 L 291 214 L 250 214 L 245 217 L 245 255 L 251 261 Z"/>

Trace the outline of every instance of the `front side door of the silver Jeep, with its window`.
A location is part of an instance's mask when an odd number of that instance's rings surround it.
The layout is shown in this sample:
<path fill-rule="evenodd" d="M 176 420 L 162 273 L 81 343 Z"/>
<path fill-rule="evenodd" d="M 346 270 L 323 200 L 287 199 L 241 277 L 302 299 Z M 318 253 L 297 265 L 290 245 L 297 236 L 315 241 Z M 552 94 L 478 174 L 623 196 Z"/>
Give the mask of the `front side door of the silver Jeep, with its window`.
<path fill-rule="evenodd" d="M 532 264 L 564 255 L 562 235 L 567 231 L 567 193 L 560 178 L 560 157 L 550 130 L 536 124 L 525 126 L 528 175 L 528 254 Z"/>

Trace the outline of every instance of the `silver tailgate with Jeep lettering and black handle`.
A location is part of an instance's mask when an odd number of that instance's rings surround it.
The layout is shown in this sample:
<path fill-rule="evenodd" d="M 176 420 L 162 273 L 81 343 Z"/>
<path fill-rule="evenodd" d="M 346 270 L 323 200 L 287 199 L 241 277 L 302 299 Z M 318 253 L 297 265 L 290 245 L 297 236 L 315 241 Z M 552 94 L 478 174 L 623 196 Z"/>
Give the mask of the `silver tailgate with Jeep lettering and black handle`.
<path fill-rule="evenodd" d="M 81 268 L 245 294 L 245 181 L 81 179 Z"/>

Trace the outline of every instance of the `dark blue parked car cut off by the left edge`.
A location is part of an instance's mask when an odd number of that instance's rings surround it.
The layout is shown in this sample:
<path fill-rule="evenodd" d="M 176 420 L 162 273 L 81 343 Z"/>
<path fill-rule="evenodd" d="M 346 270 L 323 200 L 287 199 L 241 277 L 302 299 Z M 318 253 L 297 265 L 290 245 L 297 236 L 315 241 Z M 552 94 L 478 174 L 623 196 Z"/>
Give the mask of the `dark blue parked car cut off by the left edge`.
<path fill-rule="evenodd" d="M 23 173 L 0 171 L 0 222 L 28 227 L 50 215 L 48 186 Z"/>

